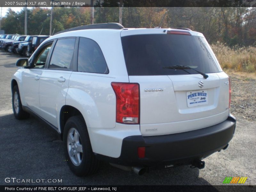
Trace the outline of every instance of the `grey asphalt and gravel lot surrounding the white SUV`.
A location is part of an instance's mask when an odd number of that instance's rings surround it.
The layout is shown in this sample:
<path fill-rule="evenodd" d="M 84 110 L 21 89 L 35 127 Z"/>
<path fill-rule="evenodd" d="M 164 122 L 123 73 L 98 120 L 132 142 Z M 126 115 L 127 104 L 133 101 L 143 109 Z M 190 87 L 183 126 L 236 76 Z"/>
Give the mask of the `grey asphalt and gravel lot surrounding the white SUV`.
<path fill-rule="evenodd" d="M 137 176 L 102 163 L 97 174 L 79 178 L 69 170 L 64 161 L 63 144 L 51 128 L 33 117 L 23 121 L 14 118 L 10 80 L 17 69 L 18 58 L 0 51 L 0 185 L 24 184 L 6 183 L 7 177 L 62 180 L 61 183 L 36 183 L 40 185 L 222 185 L 228 176 L 248 177 L 244 185 L 255 185 L 256 100 L 253 94 L 256 82 L 253 76 L 229 73 L 236 132 L 225 151 L 204 159 L 204 169 L 180 166 Z"/>

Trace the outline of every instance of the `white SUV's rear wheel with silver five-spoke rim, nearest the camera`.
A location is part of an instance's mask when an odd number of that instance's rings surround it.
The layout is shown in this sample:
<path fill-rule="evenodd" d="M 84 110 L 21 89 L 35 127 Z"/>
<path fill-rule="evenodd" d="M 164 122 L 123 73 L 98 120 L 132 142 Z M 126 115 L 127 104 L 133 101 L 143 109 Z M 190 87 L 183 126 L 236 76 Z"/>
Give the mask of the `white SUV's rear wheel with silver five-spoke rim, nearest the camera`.
<path fill-rule="evenodd" d="M 82 116 L 70 117 L 65 124 L 63 144 L 68 166 L 77 176 L 95 173 L 99 161 L 92 152 L 87 127 Z"/>

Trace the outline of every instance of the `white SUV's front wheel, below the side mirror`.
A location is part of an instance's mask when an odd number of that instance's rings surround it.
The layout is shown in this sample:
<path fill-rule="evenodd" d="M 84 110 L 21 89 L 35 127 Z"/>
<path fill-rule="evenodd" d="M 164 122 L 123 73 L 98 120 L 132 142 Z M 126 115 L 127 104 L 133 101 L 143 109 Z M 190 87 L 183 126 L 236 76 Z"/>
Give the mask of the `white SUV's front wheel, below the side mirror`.
<path fill-rule="evenodd" d="M 22 109 L 18 85 L 12 88 L 12 110 L 16 119 L 27 119 L 29 117 L 29 113 Z"/>

